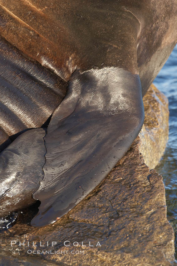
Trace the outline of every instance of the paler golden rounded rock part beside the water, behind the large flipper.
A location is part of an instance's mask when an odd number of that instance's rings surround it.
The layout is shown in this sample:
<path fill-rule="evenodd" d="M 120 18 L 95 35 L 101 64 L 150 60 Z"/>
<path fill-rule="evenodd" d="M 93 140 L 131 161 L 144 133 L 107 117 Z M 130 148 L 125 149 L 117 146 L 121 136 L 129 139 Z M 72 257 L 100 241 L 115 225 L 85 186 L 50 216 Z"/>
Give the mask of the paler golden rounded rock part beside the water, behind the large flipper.
<path fill-rule="evenodd" d="M 145 164 L 155 168 L 162 157 L 168 141 L 168 100 L 152 84 L 144 99 L 145 121 L 139 134 L 139 150 Z"/>

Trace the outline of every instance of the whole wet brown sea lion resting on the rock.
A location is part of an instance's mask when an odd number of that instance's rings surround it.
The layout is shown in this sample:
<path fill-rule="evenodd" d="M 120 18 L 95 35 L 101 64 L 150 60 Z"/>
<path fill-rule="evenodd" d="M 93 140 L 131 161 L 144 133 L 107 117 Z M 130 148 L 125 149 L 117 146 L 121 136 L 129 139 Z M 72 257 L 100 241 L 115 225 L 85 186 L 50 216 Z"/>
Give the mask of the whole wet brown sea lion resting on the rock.
<path fill-rule="evenodd" d="M 16 102 L 11 96 L 1 101 L 4 145 L 52 115 L 45 124 L 46 154 L 40 136 L 37 146 L 30 138 L 27 144 L 46 158 L 44 177 L 33 193 L 41 205 L 32 225 L 40 227 L 91 192 L 140 132 L 142 96 L 177 42 L 177 1 L 2 0 L 0 12 L 1 42 L 7 47 L 1 53 L 10 69 L 1 91 L 18 95 Z M 24 102 L 20 112 L 18 99 Z M 17 137 L 12 156 L 22 154 L 18 141 L 30 132 Z M 19 156 L 8 163 L 13 176 L 22 161 Z M 37 165 L 40 171 L 42 161 Z M 32 167 L 29 159 L 25 173 Z"/>

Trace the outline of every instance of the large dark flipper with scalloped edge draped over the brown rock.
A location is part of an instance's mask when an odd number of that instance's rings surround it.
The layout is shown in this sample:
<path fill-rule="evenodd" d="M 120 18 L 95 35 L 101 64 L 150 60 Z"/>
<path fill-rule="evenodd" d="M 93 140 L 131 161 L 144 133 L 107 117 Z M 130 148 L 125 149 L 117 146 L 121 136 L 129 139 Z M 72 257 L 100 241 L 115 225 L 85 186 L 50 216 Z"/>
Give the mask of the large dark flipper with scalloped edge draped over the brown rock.
<path fill-rule="evenodd" d="M 108 67 L 75 72 L 47 129 L 35 227 L 56 221 L 111 171 L 144 120 L 138 75 Z"/>

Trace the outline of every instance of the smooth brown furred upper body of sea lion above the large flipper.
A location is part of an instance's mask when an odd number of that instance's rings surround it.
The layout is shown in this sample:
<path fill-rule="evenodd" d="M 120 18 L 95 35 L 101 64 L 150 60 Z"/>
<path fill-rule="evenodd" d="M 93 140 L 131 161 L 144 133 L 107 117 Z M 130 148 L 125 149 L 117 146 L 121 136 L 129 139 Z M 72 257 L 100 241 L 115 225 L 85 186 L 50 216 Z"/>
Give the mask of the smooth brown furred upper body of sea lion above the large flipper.
<path fill-rule="evenodd" d="M 2 0 L 0 33 L 65 81 L 75 69 L 139 72 L 144 95 L 176 43 L 176 1 Z"/>

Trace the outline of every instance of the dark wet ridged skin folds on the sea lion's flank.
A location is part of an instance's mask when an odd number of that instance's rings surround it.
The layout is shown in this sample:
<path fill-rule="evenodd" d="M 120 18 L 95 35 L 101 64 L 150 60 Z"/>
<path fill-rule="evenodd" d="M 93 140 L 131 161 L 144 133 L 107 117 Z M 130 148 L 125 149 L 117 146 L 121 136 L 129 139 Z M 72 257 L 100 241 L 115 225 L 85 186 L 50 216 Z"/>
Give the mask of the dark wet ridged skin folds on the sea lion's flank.
<path fill-rule="evenodd" d="M 66 82 L 0 39 L 0 151 L 41 127 L 66 94 Z"/>

